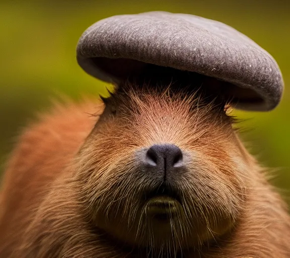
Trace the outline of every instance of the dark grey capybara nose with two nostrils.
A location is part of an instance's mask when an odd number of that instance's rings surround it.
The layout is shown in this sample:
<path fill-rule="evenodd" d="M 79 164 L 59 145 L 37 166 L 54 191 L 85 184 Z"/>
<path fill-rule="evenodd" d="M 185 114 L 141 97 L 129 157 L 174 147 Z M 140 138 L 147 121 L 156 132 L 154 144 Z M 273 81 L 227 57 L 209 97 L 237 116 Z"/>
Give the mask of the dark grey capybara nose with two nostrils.
<path fill-rule="evenodd" d="M 182 151 L 174 144 L 153 145 L 146 153 L 146 164 L 158 172 L 171 172 L 183 165 Z"/>

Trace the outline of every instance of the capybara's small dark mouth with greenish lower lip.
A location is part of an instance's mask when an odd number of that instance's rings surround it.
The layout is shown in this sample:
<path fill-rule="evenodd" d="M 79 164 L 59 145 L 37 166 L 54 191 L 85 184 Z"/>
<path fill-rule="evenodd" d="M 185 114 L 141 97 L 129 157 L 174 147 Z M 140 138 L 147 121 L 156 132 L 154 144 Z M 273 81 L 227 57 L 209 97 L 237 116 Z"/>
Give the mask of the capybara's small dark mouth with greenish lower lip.
<path fill-rule="evenodd" d="M 167 186 L 158 187 L 147 192 L 144 207 L 146 216 L 159 221 L 173 219 L 182 209 L 177 191 Z"/>

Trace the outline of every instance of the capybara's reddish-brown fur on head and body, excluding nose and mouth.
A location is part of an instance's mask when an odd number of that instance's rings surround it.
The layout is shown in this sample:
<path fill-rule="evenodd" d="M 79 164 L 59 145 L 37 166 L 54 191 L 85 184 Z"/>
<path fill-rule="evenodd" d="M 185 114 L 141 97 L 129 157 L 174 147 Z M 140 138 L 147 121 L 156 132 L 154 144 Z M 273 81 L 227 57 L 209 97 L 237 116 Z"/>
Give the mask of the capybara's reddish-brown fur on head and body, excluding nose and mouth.
<path fill-rule="evenodd" d="M 134 88 L 105 109 L 58 106 L 20 137 L 3 184 L 0 257 L 289 257 L 286 207 L 225 103 Z M 156 183 L 134 155 L 158 143 L 186 153 L 172 179 L 183 211 L 170 228 L 146 221 L 140 201 Z"/>

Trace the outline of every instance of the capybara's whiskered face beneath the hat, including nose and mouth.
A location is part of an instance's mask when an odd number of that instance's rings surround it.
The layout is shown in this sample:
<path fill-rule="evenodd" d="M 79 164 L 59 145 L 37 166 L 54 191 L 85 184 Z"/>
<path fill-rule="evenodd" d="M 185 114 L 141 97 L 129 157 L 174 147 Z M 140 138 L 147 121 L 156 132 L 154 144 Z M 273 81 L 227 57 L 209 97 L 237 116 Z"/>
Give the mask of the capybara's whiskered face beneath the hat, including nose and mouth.
<path fill-rule="evenodd" d="M 77 173 L 93 225 L 164 252 L 230 230 L 247 167 L 225 103 L 186 88 L 129 85 L 105 102 Z"/>

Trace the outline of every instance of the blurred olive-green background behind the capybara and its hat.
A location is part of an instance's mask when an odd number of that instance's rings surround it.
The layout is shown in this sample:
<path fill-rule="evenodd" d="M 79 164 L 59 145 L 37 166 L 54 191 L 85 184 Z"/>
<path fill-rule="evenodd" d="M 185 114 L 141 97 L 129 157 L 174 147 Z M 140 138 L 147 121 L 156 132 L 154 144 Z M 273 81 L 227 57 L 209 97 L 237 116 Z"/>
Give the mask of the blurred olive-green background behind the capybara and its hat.
<path fill-rule="evenodd" d="M 277 60 L 285 81 L 281 104 L 271 112 L 236 112 L 246 120 L 242 138 L 251 153 L 278 168 L 272 180 L 290 204 L 290 4 L 288 1 L 1 1 L 0 161 L 15 137 L 50 99 L 105 93 L 106 84 L 77 64 L 76 44 L 94 22 L 147 11 L 189 13 L 224 22 L 248 35 Z M 3 170 L 2 166 L 2 170 Z M 1 173 L 1 172 L 0 172 Z"/>

